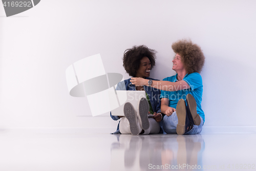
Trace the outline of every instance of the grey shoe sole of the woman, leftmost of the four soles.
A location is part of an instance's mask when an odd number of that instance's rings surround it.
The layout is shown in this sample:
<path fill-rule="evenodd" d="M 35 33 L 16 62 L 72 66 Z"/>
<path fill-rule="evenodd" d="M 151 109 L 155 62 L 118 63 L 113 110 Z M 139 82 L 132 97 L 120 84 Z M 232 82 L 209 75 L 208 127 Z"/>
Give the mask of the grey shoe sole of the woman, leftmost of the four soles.
<path fill-rule="evenodd" d="M 138 135 L 139 134 L 139 128 L 137 125 L 137 117 L 136 117 L 136 111 L 133 108 L 133 105 L 130 102 L 127 102 L 123 106 L 123 113 L 124 116 L 127 118 L 127 120 L 130 123 L 130 130 L 132 135 Z"/>

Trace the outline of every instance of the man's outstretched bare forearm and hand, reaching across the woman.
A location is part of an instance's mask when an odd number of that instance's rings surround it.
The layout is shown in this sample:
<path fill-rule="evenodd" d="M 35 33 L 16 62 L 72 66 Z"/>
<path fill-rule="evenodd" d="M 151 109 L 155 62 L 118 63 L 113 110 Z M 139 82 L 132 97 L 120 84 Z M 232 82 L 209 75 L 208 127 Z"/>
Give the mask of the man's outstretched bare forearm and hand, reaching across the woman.
<path fill-rule="evenodd" d="M 132 78 L 131 82 L 136 86 L 148 86 L 148 80 L 143 78 Z M 184 80 L 178 82 L 153 80 L 151 87 L 165 91 L 178 91 L 190 88 L 189 85 Z"/>

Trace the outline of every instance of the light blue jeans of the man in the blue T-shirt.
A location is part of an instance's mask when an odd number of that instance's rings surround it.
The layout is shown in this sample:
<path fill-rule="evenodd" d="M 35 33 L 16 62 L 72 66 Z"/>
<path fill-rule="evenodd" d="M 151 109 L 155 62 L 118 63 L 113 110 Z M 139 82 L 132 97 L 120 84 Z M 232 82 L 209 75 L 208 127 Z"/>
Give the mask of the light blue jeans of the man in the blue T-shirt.
<path fill-rule="evenodd" d="M 201 117 L 200 117 L 201 118 Z M 176 134 L 176 127 L 178 124 L 178 117 L 176 114 L 176 111 L 173 112 L 173 114 L 171 116 L 164 116 L 163 117 L 163 130 L 167 133 L 167 134 Z M 200 125 L 194 125 L 194 127 L 189 130 L 188 132 L 186 132 L 186 134 L 199 134 L 202 131 L 202 127 L 203 127 L 203 119 L 201 118 L 201 123 Z"/>

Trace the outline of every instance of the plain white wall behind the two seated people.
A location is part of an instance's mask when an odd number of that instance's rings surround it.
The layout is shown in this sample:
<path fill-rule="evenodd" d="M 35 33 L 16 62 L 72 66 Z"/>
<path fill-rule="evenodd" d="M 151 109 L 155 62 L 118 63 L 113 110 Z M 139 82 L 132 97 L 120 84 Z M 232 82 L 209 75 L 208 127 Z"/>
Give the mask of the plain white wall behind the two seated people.
<path fill-rule="evenodd" d="M 69 96 L 66 68 L 100 53 L 106 72 L 127 79 L 122 54 L 144 44 L 158 51 L 151 77 L 163 79 L 175 74 L 172 43 L 187 37 L 206 56 L 205 126 L 256 126 L 255 9 L 253 0 L 42 0 L 5 17 L 0 5 L 0 127 L 115 127 Z"/>

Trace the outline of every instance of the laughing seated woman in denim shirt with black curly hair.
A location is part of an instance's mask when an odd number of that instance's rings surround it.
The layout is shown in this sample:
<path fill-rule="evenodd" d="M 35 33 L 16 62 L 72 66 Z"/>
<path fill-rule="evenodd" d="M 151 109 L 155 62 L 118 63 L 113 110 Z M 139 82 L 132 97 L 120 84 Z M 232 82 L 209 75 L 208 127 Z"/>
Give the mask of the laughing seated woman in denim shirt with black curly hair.
<path fill-rule="evenodd" d="M 150 70 L 155 66 L 155 53 L 153 49 L 146 46 L 134 46 L 126 49 L 123 54 L 123 67 L 131 77 L 155 80 L 150 77 Z M 110 116 L 113 120 L 119 120 L 117 131 L 113 134 L 158 134 L 160 131 L 159 122 L 162 119 L 161 101 L 159 100 L 161 91 L 148 86 L 132 85 L 130 79 L 119 82 L 116 90 L 143 90 L 146 92 L 146 99 L 139 102 L 139 109 L 136 111 L 131 103 L 124 104 L 124 116 Z M 147 114 L 155 116 L 148 118 Z"/>

